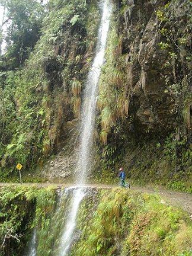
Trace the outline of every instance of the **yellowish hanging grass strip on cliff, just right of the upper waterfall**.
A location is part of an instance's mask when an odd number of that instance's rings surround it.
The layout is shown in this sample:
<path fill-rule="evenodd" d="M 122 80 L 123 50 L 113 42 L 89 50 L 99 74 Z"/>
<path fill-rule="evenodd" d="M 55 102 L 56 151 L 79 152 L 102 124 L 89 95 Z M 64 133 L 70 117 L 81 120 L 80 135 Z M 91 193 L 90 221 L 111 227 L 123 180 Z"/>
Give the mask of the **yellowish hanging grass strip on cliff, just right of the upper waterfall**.
<path fill-rule="evenodd" d="M 129 97 L 124 88 L 123 58 L 120 58 L 119 47 L 121 39 L 117 36 L 117 25 L 114 17 L 111 20 L 111 30 L 108 36 L 106 63 L 101 69 L 98 108 L 101 126 L 100 139 L 107 143 L 108 133 L 116 127 L 118 120 L 124 120 L 128 115 Z M 115 130 L 115 129 L 114 129 Z"/>

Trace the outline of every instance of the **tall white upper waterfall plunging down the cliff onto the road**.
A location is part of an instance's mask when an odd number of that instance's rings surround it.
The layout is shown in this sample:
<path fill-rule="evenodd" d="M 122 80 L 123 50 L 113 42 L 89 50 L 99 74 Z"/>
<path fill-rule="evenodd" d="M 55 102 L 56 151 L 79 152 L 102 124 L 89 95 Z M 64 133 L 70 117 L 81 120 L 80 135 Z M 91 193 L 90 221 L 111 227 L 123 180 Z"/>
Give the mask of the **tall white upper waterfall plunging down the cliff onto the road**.
<path fill-rule="evenodd" d="M 101 66 L 104 63 L 105 45 L 107 33 L 110 25 L 110 7 L 108 0 L 104 0 L 102 6 L 103 14 L 101 18 L 100 30 L 98 32 L 98 41 L 96 55 L 89 71 L 87 83 L 84 91 L 84 104 L 81 112 L 81 137 L 79 145 L 79 155 L 76 164 L 76 173 L 78 174 L 78 184 L 83 185 L 86 180 L 86 174 L 90 168 L 91 147 L 95 126 L 95 108 L 98 81 L 100 79 Z"/>

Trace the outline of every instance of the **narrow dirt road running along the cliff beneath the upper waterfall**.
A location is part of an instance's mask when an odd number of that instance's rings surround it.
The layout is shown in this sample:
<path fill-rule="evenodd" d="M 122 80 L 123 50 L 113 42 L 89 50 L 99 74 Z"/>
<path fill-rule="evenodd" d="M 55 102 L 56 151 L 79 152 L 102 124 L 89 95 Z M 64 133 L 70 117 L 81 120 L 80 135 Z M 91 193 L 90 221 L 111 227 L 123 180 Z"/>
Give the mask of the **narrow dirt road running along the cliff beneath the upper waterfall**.
<path fill-rule="evenodd" d="M 7 186 L 17 186 L 20 184 L 17 183 L 0 183 L 0 187 L 7 187 Z M 55 187 L 74 187 L 73 184 L 59 184 L 59 183 L 25 183 L 23 185 L 27 186 L 34 186 L 34 187 L 48 187 L 48 186 L 55 186 Z M 108 185 L 108 184 L 87 184 L 87 187 L 92 188 L 115 188 L 118 185 Z M 132 190 L 141 191 L 143 193 L 156 193 L 162 197 L 162 203 L 170 204 L 173 206 L 181 207 L 186 212 L 188 212 L 192 219 L 192 194 L 181 193 L 171 190 L 164 190 L 164 189 L 154 189 L 149 187 L 131 187 Z"/>

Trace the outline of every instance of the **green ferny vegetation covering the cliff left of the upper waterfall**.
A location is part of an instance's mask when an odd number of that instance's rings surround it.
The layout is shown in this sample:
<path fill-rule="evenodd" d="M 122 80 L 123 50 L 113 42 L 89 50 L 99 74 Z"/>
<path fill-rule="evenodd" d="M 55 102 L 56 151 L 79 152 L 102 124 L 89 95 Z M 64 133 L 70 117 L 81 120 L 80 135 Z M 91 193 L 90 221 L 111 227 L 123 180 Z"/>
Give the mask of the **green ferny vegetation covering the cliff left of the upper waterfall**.
<path fill-rule="evenodd" d="M 82 56 L 91 55 L 98 25 L 98 7 L 93 2 L 50 1 L 49 12 L 44 18 L 41 15 L 41 37 L 25 68 L 1 73 L 0 161 L 4 178 L 14 175 L 17 162 L 27 172 L 43 165 L 58 149 L 63 124 L 78 117 L 81 85 L 89 68 Z M 23 4 L 19 6 L 29 8 L 28 2 Z M 87 12 L 91 14 L 85 15 Z"/>

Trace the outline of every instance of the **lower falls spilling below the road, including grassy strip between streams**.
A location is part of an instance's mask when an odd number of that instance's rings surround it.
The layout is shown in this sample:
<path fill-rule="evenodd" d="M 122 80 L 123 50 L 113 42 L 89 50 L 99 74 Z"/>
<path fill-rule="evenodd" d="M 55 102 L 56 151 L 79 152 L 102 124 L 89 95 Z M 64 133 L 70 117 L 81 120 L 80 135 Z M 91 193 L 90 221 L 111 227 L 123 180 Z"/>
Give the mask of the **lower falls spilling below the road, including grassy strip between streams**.
<path fill-rule="evenodd" d="M 55 191 L 56 207 L 43 228 L 37 223 L 26 256 L 66 256 L 73 244 L 78 209 L 88 193 L 88 188 L 71 187 Z M 47 198 L 49 200 L 49 198 Z M 42 209 L 40 209 L 42 210 Z M 46 218 L 44 216 L 43 218 Z M 42 223 L 40 223 L 42 225 Z"/>

